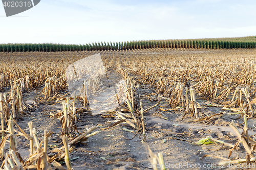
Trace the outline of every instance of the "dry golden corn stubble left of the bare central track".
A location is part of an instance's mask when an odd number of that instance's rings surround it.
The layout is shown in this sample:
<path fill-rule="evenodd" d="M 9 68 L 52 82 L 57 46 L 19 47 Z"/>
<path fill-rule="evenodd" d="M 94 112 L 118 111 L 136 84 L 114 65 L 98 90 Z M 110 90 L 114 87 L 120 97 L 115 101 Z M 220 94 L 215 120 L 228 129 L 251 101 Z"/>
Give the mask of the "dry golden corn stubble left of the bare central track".
<path fill-rule="evenodd" d="M 30 55 L 31 54 L 28 54 L 27 56 Z M 90 53 L 88 55 L 90 55 Z M 11 62 L 12 61 L 10 61 L 10 63 Z M 91 127 L 88 131 L 78 133 L 76 123 L 79 115 L 77 115 L 77 108 L 75 106 L 76 96 L 74 96 L 74 98 L 69 98 L 67 97 L 67 94 L 58 94 L 59 91 L 64 90 L 67 87 L 65 71 L 63 71 L 65 66 L 58 64 L 58 67 L 55 67 L 57 65 L 56 62 L 54 63 L 54 61 L 50 61 L 48 62 L 48 66 L 50 64 L 50 67 L 48 67 L 42 66 L 44 65 L 43 62 L 47 61 L 41 60 L 40 62 L 41 64 L 39 65 L 31 65 L 30 62 L 25 59 L 23 62 L 24 65 L 15 66 L 14 64 L 12 65 L 9 63 L 9 66 L 6 65 L 8 68 L 4 65 L 1 67 L 1 71 L 4 72 L 1 76 L 1 80 L 6 81 L 5 83 L 2 82 L 1 87 L 11 87 L 9 92 L 0 93 L 2 127 L 0 155 L 3 159 L 2 168 L 51 169 L 52 165 L 59 169 L 65 169 L 58 163 L 59 161 L 65 160 L 68 169 L 72 169 L 71 162 L 67 160 L 70 160 L 69 153 L 74 149 L 74 145 L 78 142 L 84 142 L 89 137 L 99 133 L 98 131 L 93 132 L 99 127 Z M 34 61 L 34 63 L 36 62 Z M 52 134 L 51 131 L 45 130 L 44 140 L 40 141 L 37 137 L 36 129 L 33 128 L 32 122 L 28 123 L 30 129 L 29 135 L 15 123 L 15 120 L 22 119 L 23 113 L 27 112 L 29 109 L 37 107 L 35 101 L 25 101 L 23 93 L 31 92 L 42 86 L 44 88 L 41 90 L 42 97 L 38 98 L 39 103 L 46 104 L 53 101 L 63 102 L 63 111 L 60 115 L 56 115 L 56 117 L 61 119 L 61 123 L 64 127 L 61 136 L 66 137 L 68 140 L 68 142 L 63 142 L 63 147 L 60 147 L 59 149 L 55 148 L 55 150 L 50 153 L 48 150 L 48 141 Z M 8 128 L 6 129 L 7 126 Z M 24 136 L 30 141 L 30 157 L 27 159 L 23 159 L 18 153 L 17 135 Z M 65 139 L 65 141 L 67 140 Z M 10 143 L 9 151 L 4 150 L 6 142 Z"/>

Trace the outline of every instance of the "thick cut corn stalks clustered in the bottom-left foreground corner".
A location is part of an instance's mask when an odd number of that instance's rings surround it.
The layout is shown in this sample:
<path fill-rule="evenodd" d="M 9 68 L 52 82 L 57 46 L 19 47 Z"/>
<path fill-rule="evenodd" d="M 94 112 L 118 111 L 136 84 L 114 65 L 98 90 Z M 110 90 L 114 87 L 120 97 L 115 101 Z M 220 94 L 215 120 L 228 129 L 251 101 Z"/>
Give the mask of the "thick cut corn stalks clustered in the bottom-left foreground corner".
<path fill-rule="evenodd" d="M 14 129 L 14 124 L 16 129 Z M 4 157 L 4 161 L 2 167 L 5 169 L 51 169 L 51 165 L 55 166 L 56 168 L 65 169 L 62 167 L 61 164 L 58 162 L 61 160 L 65 160 L 65 163 L 68 169 L 72 169 L 71 162 L 70 162 L 70 152 L 74 149 L 74 144 L 77 142 L 86 141 L 89 137 L 96 135 L 99 133 L 98 131 L 91 133 L 92 131 L 96 130 L 99 127 L 91 127 L 86 132 L 80 133 L 74 138 L 71 138 L 68 141 L 68 136 L 63 135 L 63 146 L 60 148 L 55 148 L 50 153 L 48 151 L 48 141 L 49 137 L 52 135 L 53 132 L 45 130 L 44 135 L 44 143 L 43 141 L 39 142 L 37 137 L 36 129 L 33 128 L 33 123 L 28 123 L 30 129 L 30 135 L 26 134 L 10 117 L 8 120 L 8 131 L 7 134 L 0 143 L 0 154 L 3 155 L 6 142 L 10 143 L 9 154 L 6 153 Z M 24 136 L 27 140 L 30 140 L 30 157 L 24 160 L 17 150 L 17 135 Z M 9 140 L 7 140 L 9 138 Z M 35 143 L 35 147 L 34 147 Z M 44 144 L 44 147 L 42 147 Z"/>

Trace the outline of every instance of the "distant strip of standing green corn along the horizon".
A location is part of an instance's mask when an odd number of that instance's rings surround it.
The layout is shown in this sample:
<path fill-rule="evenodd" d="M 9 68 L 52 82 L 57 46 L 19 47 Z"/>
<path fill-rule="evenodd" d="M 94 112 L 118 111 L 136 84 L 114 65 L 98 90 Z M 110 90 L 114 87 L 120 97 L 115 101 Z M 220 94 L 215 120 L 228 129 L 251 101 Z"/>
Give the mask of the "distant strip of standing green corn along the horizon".
<path fill-rule="evenodd" d="M 255 48 L 256 36 L 238 38 L 210 38 L 184 40 L 143 40 L 124 42 L 92 42 L 89 44 L 0 44 L 0 52 L 78 52 L 78 51 L 122 51 L 141 50 L 146 48 L 205 48 L 234 49 Z"/>

